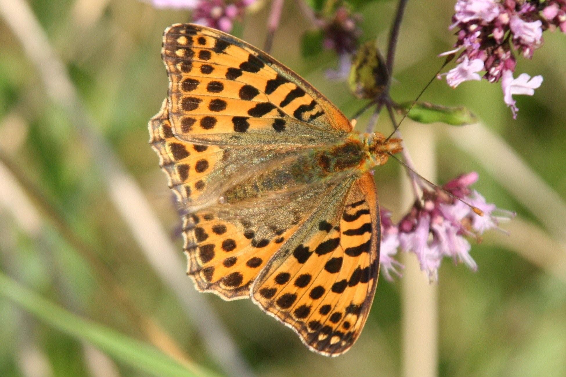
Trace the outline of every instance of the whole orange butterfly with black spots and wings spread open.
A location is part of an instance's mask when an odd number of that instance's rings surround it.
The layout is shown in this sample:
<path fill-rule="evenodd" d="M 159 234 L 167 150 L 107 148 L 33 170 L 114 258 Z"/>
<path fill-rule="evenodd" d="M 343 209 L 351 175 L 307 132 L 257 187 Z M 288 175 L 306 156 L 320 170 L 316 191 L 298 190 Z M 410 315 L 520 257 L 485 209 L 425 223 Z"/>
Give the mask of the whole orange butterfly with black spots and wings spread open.
<path fill-rule="evenodd" d="M 162 58 L 169 90 L 150 143 L 182 211 L 196 289 L 249 297 L 309 349 L 346 352 L 379 275 L 369 171 L 400 140 L 353 132 L 307 81 L 216 29 L 172 25 Z"/>

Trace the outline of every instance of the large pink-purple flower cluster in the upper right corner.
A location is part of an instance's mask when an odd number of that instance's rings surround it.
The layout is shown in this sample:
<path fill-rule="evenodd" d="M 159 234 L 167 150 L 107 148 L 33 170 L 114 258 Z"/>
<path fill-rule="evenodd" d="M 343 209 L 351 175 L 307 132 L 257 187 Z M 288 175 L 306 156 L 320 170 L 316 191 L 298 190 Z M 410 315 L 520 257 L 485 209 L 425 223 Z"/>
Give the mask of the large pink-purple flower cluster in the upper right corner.
<path fill-rule="evenodd" d="M 464 81 L 480 80 L 477 72 L 484 71 L 483 78 L 490 83 L 501 80 L 504 101 L 516 118 L 512 95 L 532 96 L 542 76 L 531 79 L 522 73 L 514 79 L 513 50 L 530 59 L 543 44 L 544 30 L 566 32 L 566 0 L 458 0 L 454 10 L 450 29 L 458 28 L 456 48 L 441 55 L 464 51 L 458 66 L 445 74 L 448 84 L 456 88 Z"/>

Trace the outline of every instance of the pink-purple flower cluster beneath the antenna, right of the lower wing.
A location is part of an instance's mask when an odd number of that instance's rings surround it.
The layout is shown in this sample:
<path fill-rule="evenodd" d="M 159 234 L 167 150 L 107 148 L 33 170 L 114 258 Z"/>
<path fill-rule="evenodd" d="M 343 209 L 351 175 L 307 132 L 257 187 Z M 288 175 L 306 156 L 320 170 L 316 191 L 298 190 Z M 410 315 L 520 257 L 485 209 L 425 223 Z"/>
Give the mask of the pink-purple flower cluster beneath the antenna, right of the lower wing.
<path fill-rule="evenodd" d="M 478 174 L 471 172 L 443 186 L 461 200 L 441 190 L 423 189 L 422 200 L 415 202 L 409 214 L 397 225 L 391 222 L 389 211 L 381 211 L 380 263 L 386 279 L 391 280 L 392 274 L 400 276 L 398 268 L 402 266 L 393 258 L 398 248 L 415 253 L 421 270 L 428 274 L 431 281 L 438 279 L 443 257 L 451 257 L 454 262 L 463 262 L 471 270 L 477 270 L 478 266 L 469 254 L 471 245 L 466 237 L 479 240 L 488 229 L 499 229 L 499 220 L 513 215 L 497 210 L 494 204 L 486 203 L 481 194 L 470 189 L 477 179 Z M 470 206 L 481 210 L 483 216 L 475 213 Z M 496 210 L 503 216 L 495 216 Z"/>

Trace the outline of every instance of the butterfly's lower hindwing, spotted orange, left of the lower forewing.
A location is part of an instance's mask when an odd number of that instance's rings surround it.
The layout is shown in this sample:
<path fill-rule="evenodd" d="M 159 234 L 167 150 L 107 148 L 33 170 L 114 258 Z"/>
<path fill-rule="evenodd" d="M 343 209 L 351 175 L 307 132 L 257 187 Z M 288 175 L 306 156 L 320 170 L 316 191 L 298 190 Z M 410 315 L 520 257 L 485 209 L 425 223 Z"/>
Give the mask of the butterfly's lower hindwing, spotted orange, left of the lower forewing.
<path fill-rule="evenodd" d="M 250 286 L 281 248 L 289 248 L 323 198 L 340 194 L 344 184 L 320 184 L 308 192 L 218 205 L 185 218 L 188 274 L 201 291 L 227 300 L 247 298 Z"/>

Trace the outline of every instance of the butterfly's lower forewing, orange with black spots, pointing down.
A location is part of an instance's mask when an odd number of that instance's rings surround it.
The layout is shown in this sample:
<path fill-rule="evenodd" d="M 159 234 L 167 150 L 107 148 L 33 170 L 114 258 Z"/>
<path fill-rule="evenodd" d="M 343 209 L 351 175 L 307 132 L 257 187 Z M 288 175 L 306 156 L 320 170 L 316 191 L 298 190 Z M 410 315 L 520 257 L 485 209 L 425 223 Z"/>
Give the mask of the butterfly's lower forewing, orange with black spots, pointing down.
<path fill-rule="evenodd" d="M 293 328 L 311 350 L 338 356 L 357 340 L 379 274 L 380 218 L 373 176 L 328 198 L 308 231 L 273 256 L 252 287 L 254 302 Z"/>

